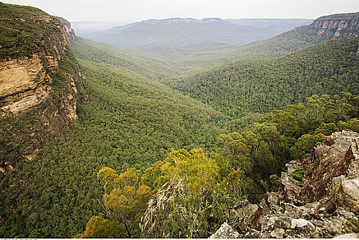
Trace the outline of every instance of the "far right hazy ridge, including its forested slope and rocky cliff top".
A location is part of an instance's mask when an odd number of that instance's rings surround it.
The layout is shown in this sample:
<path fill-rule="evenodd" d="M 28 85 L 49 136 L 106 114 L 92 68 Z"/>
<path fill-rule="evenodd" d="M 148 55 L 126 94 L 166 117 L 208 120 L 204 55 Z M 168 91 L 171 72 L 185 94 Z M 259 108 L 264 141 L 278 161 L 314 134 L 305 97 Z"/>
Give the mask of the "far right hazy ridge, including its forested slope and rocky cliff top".
<path fill-rule="evenodd" d="M 311 25 L 296 27 L 270 39 L 232 49 L 192 53 L 173 59 L 173 64 L 188 69 L 208 69 L 241 58 L 278 58 L 327 40 L 359 36 L 358 23 L 359 12 L 322 16 Z"/>

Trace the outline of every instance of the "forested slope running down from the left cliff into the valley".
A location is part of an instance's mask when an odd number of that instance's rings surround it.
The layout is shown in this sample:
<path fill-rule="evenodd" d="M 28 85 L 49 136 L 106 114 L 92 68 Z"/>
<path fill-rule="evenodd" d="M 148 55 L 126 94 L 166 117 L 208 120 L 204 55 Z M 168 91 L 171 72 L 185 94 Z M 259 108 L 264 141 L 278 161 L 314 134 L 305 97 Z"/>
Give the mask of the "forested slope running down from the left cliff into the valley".
<path fill-rule="evenodd" d="M 52 73 L 52 101 L 61 100 L 64 73 L 74 71 L 75 64 L 67 56 Z M 102 212 L 102 189 L 94 172 L 105 166 L 120 172 L 131 167 L 143 171 L 164 159 L 171 147 L 202 146 L 210 151 L 224 132 L 220 126 L 226 118 L 219 112 L 139 73 L 85 60 L 80 60 L 80 67 L 87 73 L 88 101 L 78 104 L 76 122 L 43 145 L 22 171 L 1 180 L 0 199 L 13 206 L 1 213 L 4 237 L 72 237 L 83 232 L 89 218 Z M 1 158 L 18 160 L 19 149 L 32 144 L 31 127 L 36 126 L 32 119 L 37 115 L 41 112 L 1 117 L 6 128 L 1 139 L 13 138 L 22 128 L 28 139 L 1 147 Z M 27 224 L 32 213 L 37 221 Z"/>

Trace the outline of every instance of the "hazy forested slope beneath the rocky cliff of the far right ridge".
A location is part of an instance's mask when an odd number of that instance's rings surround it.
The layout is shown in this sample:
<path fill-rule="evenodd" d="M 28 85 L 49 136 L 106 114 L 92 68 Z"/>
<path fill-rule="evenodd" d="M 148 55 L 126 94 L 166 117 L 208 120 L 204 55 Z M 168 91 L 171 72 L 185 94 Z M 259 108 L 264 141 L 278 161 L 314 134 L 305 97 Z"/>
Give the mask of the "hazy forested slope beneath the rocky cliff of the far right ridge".
<path fill-rule="evenodd" d="M 331 18 L 332 16 L 334 17 L 333 20 L 336 20 L 335 15 L 329 15 L 325 17 Z M 347 23 L 358 21 L 358 12 L 347 14 L 346 16 L 342 17 L 341 20 L 346 21 Z M 229 46 L 226 49 L 219 49 L 217 51 L 203 51 L 199 53 L 195 52 L 188 54 L 187 56 L 175 55 L 173 64 L 190 71 L 193 69 L 195 69 L 197 72 L 208 71 L 210 67 L 215 67 L 218 64 L 228 62 L 230 60 L 248 58 L 279 58 L 294 51 L 298 51 L 299 49 L 304 49 L 305 47 L 323 43 L 333 38 L 345 38 L 347 36 L 358 35 L 358 30 L 355 27 L 352 29 L 347 29 L 347 32 L 345 32 L 344 36 L 336 36 L 334 31 L 328 31 L 328 34 L 317 34 L 316 31 L 318 31 L 318 28 L 313 25 L 296 27 L 295 30 L 293 29 L 283 34 L 279 34 L 273 38 L 258 40 L 245 46 Z M 167 83 L 171 84 L 173 80 L 166 81 Z"/>

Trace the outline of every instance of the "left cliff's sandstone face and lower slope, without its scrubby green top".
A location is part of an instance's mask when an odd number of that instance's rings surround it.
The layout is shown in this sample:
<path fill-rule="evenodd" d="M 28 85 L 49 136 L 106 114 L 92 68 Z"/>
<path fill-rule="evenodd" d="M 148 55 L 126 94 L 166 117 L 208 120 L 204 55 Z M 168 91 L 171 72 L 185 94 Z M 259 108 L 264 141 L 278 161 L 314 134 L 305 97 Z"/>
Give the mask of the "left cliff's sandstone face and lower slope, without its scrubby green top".
<path fill-rule="evenodd" d="M 23 21 L 44 23 L 49 30 L 39 35 L 41 45 L 33 51 L 0 61 L 0 167 L 4 170 L 0 178 L 9 166 L 16 169 L 17 163 L 31 160 L 50 136 L 76 119 L 78 94 L 85 79 L 66 49 L 67 43 L 76 38 L 67 21 L 63 25 L 54 16 Z M 14 45 L 14 49 L 17 47 Z M 61 64 L 71 67 L 64 70 Z M 63 87 L 55 89 L 52 83 L 56 81 Z M 30 119 L 27 116 L 32 120 L 17 123 L 22 118 Z"/>

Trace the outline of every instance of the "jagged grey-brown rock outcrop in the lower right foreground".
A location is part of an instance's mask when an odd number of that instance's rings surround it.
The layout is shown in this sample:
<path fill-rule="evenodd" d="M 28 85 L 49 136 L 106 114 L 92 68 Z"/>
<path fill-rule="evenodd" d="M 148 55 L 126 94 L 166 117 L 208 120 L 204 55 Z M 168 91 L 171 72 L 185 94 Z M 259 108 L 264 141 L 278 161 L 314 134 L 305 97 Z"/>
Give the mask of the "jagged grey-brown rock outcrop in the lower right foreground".
<path fill-rule="evenodd" d="M 245 238 L 353 237 L 359 231 L 359 134 L 334 132 L 309 158 L 287 163 L 281 187 L 266 193 L 243 221 Z M 303 187 L 290 173 L 305 169 Z M 244 206 L 242 206 L 244 205 Z M 249 208 L 244 202 L 241 209 Z"/>

